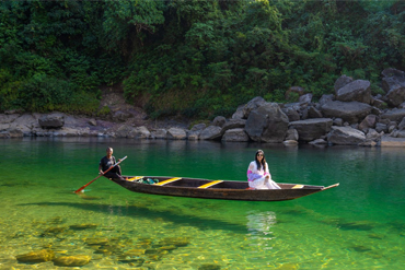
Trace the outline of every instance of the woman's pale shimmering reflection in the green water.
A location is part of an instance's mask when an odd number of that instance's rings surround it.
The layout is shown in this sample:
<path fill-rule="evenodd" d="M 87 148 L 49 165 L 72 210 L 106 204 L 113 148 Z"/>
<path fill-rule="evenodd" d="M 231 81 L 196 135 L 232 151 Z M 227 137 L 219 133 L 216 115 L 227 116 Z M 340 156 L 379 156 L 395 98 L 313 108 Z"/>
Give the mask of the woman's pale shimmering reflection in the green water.
<path fill-rule="evenodd" d="M 246 215 L 247 219 L 247 232 L 252 236 L 261 237 L 266 236 L 271 239 L 273 232 L 271 227 L 277 223 L 276 213 L 273 211 L 250 211 Z M 262 238 L 262 237 L 261 237 Z"/>

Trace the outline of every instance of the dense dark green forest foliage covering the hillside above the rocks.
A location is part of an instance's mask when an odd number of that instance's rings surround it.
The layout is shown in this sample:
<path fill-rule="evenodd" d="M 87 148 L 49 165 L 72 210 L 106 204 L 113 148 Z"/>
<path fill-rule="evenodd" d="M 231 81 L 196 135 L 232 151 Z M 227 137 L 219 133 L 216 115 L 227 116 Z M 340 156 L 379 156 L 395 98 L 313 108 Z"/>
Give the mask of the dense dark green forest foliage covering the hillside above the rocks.
<path fill-rule="evenodd" d="M 151 115 L 229 116 L 302 86 L 332 93 L 342 74 L 405 68 L 403 1 L 2 1 L 0 109 L 101 114 L 123 83 Z M 291 101 L 288 101 L 291 102 Z"/>

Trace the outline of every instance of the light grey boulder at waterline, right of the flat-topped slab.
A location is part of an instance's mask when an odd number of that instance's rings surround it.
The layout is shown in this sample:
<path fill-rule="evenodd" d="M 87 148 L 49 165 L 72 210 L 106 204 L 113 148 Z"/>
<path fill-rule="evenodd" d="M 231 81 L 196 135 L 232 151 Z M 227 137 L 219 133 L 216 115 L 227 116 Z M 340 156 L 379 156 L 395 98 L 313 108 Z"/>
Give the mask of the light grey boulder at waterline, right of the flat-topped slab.
<path fill-rule="evenodd" d="M 358 145 L 366 141 L 366 134 L 350 127 L 332 127 L 327 141 L 339 145 Z"/>

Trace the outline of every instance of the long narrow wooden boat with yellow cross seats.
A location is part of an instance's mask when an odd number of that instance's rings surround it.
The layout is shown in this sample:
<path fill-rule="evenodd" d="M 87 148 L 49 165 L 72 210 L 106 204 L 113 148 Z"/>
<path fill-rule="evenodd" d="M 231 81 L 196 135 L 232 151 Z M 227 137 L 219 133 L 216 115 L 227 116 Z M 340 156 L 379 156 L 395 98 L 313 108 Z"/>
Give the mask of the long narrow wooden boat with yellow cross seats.
<path fill-rule="evenodd" d="M 281 189 L 250 189 L 247 181 L 208 180 L 186 177 L 161 176 L 124 176 L 125 180 L 112 179 L 124 188 L 143 193 L 182 196 L 205 199 L 246 200 L 246 201 L 282 201 L 324 191 L 337 187 L 278 184 Z M 144 184 L 147 179 L 159 180 Z"/>

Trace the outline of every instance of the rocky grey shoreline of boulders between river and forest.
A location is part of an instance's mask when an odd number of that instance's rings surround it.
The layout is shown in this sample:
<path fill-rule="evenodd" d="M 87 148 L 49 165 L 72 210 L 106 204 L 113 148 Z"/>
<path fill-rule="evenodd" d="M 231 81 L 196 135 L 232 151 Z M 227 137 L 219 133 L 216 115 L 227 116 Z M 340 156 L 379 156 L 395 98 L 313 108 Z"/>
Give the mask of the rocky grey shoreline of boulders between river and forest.
<path fill-rule="evenodd" d="M 222 140 L 297 145 L 405 146 L 405 72 L 382 72 L 384 95 L 372 96 L 370 82 L 340 77 L 335 94 L 317 103 L 301 87 L 291 87 L 298 103 L 268 103 L 255 97 L 240 106 L 229 119 L 219 116 L 210 124 L 150 121 L 131 106 L 112 109 L 111 120 L 62 113 L 0 114 L 0 138 L 109 137 L 165 140 Z"/>

